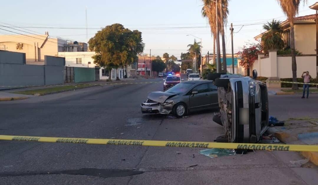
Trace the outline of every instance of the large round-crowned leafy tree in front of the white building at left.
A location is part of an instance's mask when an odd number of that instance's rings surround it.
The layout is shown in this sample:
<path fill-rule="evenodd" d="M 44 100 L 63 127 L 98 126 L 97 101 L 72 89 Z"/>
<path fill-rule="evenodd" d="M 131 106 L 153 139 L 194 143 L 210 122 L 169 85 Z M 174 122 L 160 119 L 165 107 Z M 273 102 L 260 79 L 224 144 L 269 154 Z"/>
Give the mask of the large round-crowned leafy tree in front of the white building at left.
<path fill-rule="evenodd" d="M 98 31 L 88 41 L 89 48 L 95 51 L 94 64 L 111 69 L 138 61 L 137 54 L 143 52 L 142 33 L 138 30 L 125 29 L 121 24 L 112 24 Z M 119 80 L 119 77 L 117 76 Z"/>

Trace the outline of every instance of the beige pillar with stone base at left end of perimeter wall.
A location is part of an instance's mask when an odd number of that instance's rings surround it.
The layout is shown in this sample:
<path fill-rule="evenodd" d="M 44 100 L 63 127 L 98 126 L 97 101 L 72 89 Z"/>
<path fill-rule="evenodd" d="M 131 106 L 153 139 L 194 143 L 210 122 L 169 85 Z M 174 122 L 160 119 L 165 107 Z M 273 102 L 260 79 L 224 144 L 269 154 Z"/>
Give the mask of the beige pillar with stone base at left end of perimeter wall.
<path fill-rule="evenodd" d="M 280 78 L 277 74 L 277 50 L 269 50 L 269 67 L 270 77 L 266 80 L 267 87 L 280 88 Z"/>

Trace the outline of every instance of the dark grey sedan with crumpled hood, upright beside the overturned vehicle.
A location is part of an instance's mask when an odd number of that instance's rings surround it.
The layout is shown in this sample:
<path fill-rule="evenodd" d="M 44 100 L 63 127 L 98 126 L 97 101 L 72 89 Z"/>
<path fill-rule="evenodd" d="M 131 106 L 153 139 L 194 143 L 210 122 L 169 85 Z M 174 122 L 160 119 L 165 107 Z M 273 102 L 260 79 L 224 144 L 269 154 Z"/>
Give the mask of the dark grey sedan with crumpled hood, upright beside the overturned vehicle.
<path fill-rule="evenodd" d="M 218 107 L 218 88 L 211 80 L 179 83 L 165 92 L 149 93 L 141 104 L 142 114 L 174 114 L 182 117 L 192 110 Z"/>

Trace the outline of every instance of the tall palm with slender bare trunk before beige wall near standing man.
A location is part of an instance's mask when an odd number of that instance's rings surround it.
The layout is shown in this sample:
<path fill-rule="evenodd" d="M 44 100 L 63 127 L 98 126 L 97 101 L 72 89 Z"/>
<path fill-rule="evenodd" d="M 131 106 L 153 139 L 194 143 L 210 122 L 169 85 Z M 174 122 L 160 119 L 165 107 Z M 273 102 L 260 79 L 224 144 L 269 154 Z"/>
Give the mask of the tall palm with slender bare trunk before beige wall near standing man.
<path fill-rule="evenodd" d="M 277 0 L 280 8 L 283 10 L 287 16 L 290 24 L 290 48 L 292 54 L 292 72 L 293 72 L 293 82 L 297 82 L 297 64 L 296 64 L 296 55 L 295 55 L 295 37 L 294 37 L 294 18 L 298 14 L 299 4 L 301 1 L 305 3 L 308 0 Z M 292 85 L 292 89 L 298 89 L 297 84 Z"/>

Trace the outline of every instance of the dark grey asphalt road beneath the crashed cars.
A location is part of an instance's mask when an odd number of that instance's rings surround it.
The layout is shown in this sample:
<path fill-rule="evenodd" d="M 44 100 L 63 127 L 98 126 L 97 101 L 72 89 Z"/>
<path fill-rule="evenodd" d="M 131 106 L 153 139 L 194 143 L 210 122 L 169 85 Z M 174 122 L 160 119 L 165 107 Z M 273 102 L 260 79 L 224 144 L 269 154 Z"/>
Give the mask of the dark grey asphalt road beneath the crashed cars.
<path fill-rule="evenodd" d="M 186 118 L 143 116 L 140 103 L 162 79 L 104 85 L 0 102 L 0 134 L 174 141 L 213 141 L 223 129 L 213 110 Z M 317 95 L 270 99 L 280 119 L 317 117 Z M 316 184 L 318 169 L 292 166 L 296 152 L 256 151 L 209 158 L 198 148 L 0 141 L 0 184 Z"/>

